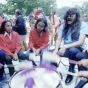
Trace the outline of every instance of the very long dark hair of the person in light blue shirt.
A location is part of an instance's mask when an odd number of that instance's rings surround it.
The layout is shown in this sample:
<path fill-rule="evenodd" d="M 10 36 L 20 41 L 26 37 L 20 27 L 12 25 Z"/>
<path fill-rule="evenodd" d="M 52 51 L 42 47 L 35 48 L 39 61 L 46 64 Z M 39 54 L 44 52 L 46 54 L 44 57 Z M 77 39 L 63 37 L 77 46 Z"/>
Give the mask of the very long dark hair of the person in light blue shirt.
<path fill-rule="evenodd" d="M 64 25 L 64 30 L 63 30 L 63 36 L 66 35 L 66 33 L 68 32 L 68 24 L 67 24 L 67 17 L 68 15 L 72 15 L 72 14 L 76 14 L 76 20 L 75 22 L 72 24 L 72 33 L 71 33 L 71 37 L 74 37 L 75 34 L 77 33 L 78 29 L 80 29 L 80 13 L 78 11 L 78 9 L 76 8 L 70 8 L 65 16 L 64 16 L 64 20 L 65 20 L 65 25 Z"/>

